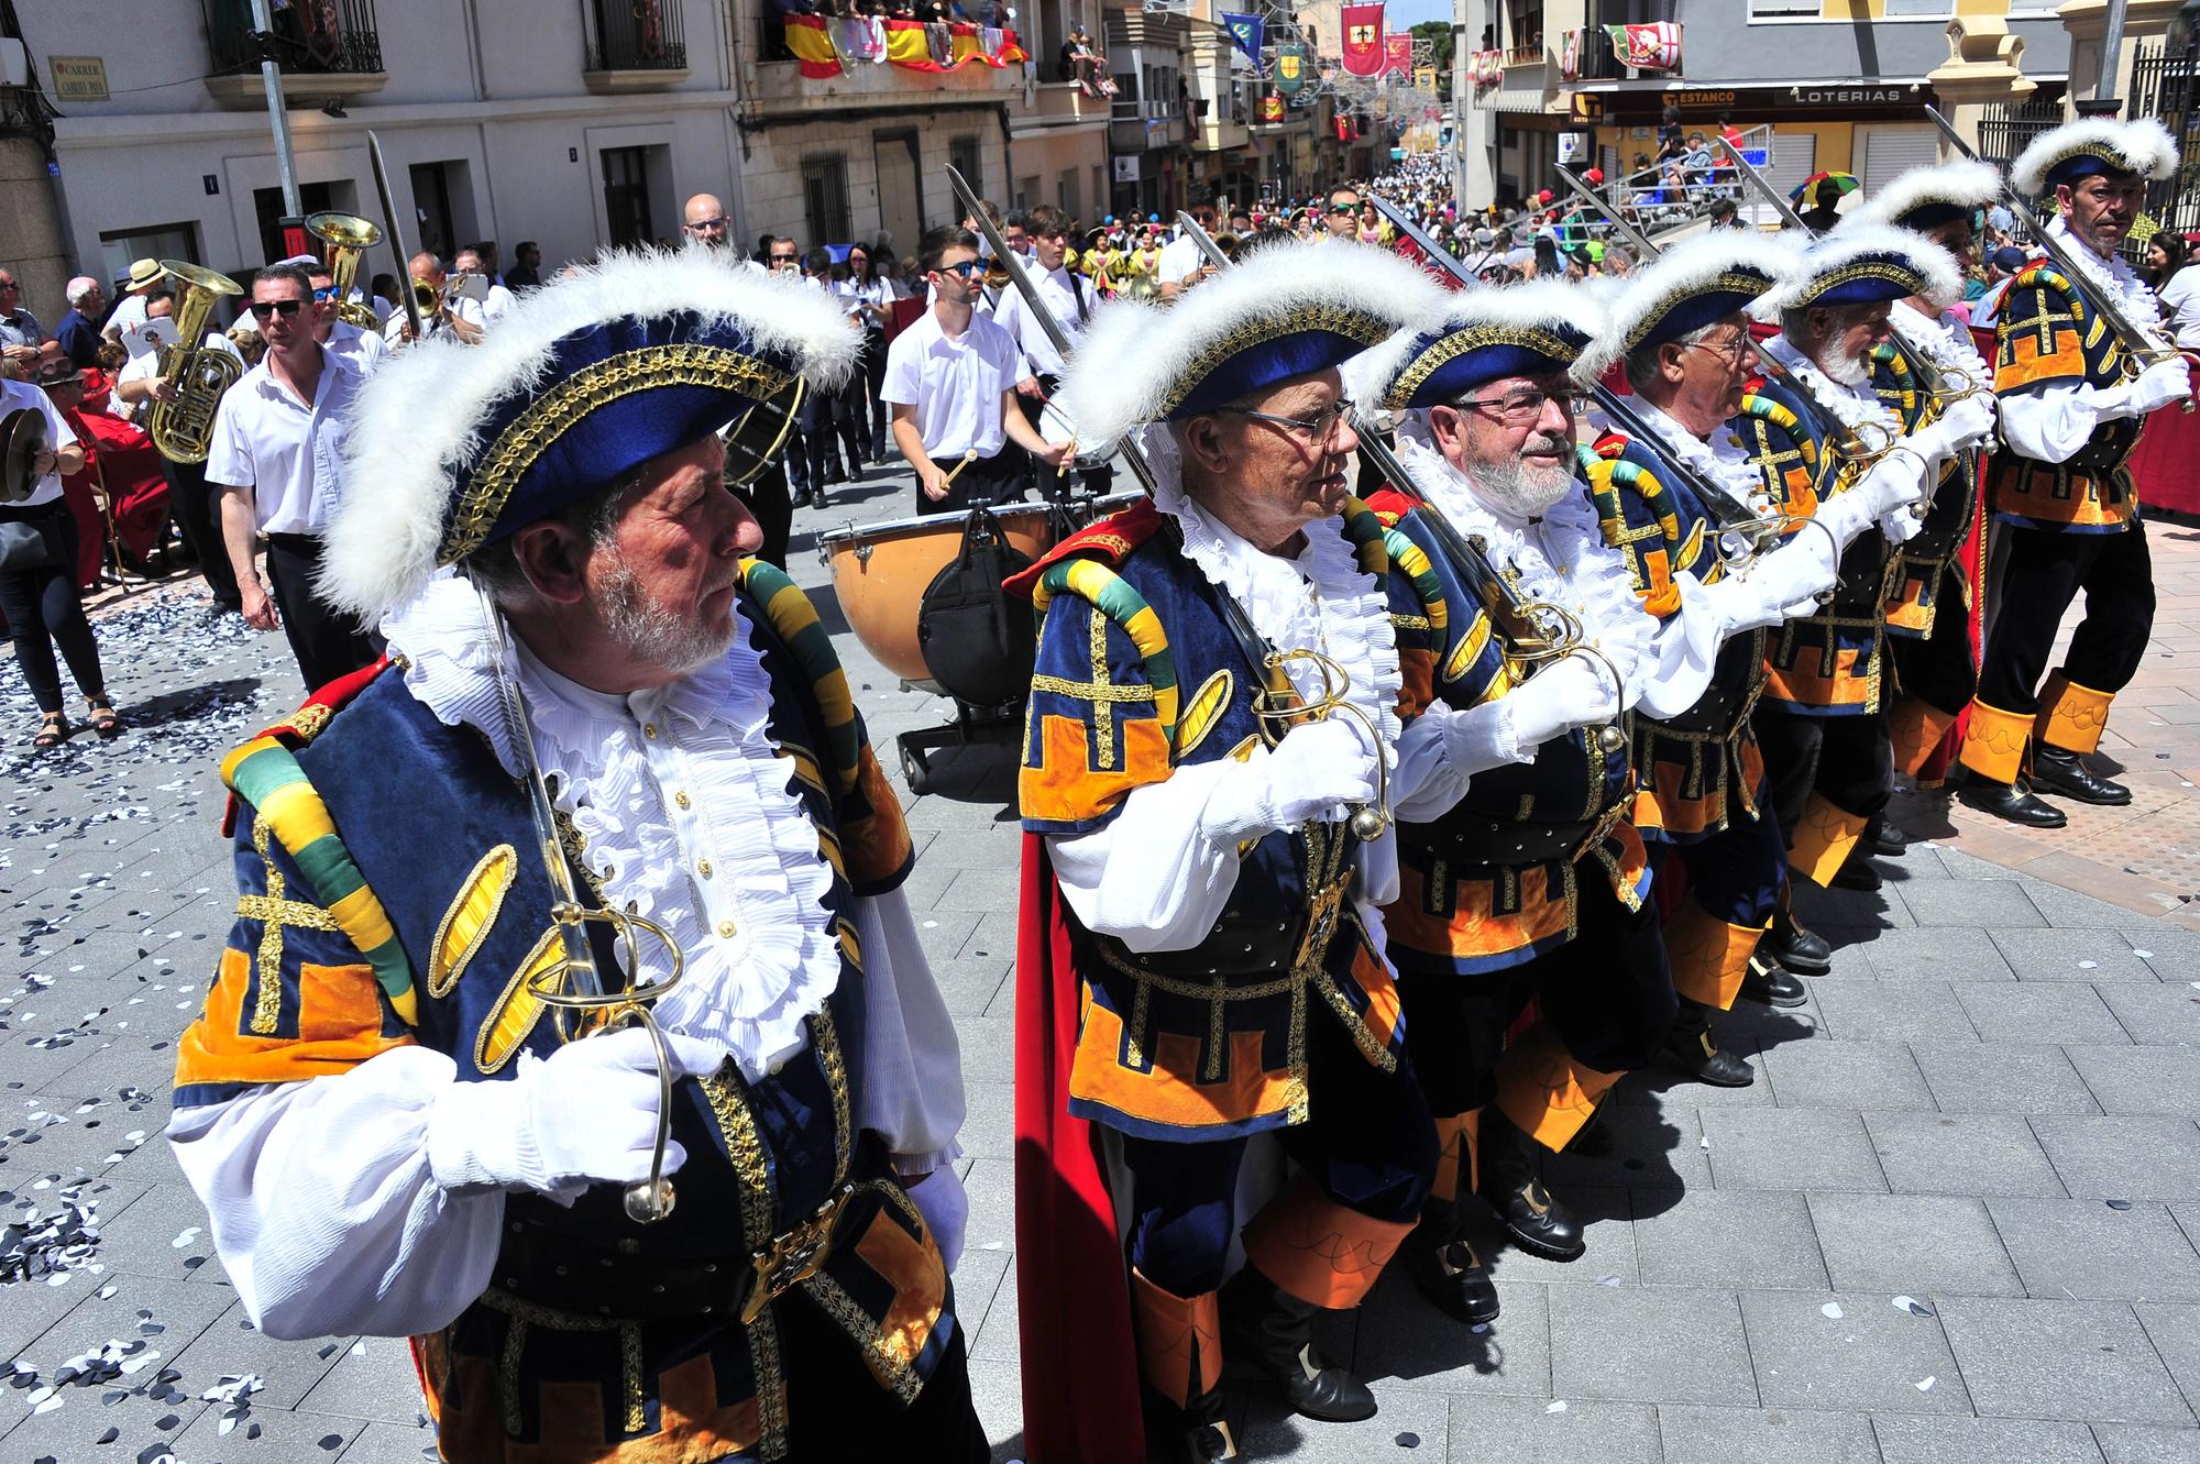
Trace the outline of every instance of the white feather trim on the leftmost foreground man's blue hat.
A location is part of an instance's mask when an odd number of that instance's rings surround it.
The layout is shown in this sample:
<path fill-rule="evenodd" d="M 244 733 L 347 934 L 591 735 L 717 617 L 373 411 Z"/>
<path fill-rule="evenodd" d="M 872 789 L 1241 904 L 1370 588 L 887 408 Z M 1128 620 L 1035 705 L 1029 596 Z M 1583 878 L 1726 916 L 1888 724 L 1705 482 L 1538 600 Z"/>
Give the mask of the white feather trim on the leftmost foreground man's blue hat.
<path fill-rule="evenodd" d="M 436 569 L 453 477 L 484 446 L 488 409 L 539 389 L 565 336 L 680 310 L 739 321 L 761 350 L 792 356 L 821 389 L 847 380 L 862 352 L 862 334 L 825 290 L 702 246 L 612 255 L 530 290 L 480 345 L 414 345 L 359 389 L 319 594 L 370 620 L 418 594 Z"/>

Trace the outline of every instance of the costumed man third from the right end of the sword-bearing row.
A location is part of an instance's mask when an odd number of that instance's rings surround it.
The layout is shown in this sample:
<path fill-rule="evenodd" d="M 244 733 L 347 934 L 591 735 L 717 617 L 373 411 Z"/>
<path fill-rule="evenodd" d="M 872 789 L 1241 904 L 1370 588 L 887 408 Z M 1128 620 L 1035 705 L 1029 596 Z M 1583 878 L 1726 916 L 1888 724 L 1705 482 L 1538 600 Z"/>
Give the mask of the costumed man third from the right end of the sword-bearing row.
<path fill-rule="evenodd" d="M 1940 462 L 1978 442 L 1993 413 L 1958 402 L 1914 433 L 1879 400 L 1872 352 L 1894 328 L 1894 301 L 1921 295 L 1951 301 L 1956 262 L 1938 244 L 1903 229 L 1846 229 L 1817 240 L 1780 290 L 1756 310 L 1778 317 L 1780 334 L 1758 350 L 1800 385 L 1758 382 L 1731 431 L 1742 437 L 1775 512 L 1811 517 L 1819 501 L 1866 477 L 1890 479 L 1901 501 L 1918 503 Z M 1841 433 L 1877 457 L 1850 459 Z M 1892 446 L 1890 446 L 1892 444 Z M 1899 486 L 1899 488 L 1894 488 Z M 1890 541 L 1914 534 L 1918 519 L 1896 510 L 1866 530 L 1841 556 L 1833 602 L 1789 620 L 1771 646 L 1771 675 L 1758 699 L 1764 754 L 1789 868 L 1813 884 L 1879 888 L 1879 870 L 1859 849 L 1866 824 L 1894 794 L 1885 703 L 1885 591 Z"/>

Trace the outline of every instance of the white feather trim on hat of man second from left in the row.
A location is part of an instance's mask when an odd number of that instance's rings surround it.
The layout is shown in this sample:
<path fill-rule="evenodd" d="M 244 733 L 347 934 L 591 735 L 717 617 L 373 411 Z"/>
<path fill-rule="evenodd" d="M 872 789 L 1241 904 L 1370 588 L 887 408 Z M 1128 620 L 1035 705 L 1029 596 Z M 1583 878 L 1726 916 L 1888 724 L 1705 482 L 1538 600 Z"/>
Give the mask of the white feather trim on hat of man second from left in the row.
<path fill-rule="evenodd" d="M 1093 312 L 1058 393 L 1085 444 L 1113 444 L 1164 415 L 1201 352 L 1307 306 L 1364 310 L 1393 328 L 1426 319 L 1443 286 L 1388 248 L 1346 240 L 1274 244 L 1168 308 L 1109 301 Z"/>

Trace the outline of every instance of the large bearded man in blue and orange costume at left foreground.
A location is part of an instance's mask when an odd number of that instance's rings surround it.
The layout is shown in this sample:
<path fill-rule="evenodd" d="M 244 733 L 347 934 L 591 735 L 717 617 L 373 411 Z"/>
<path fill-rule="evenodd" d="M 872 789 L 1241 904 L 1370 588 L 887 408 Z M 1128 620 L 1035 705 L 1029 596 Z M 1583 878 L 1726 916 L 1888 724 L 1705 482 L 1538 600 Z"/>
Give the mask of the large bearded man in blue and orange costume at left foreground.
<path fill-rule="evenodd" d="M 169 1139 L 246 1315 L 411 1337 L 447 1460 L 986 1457 L 909 833 L 719 440 L 856 352 L 706 251 L 414 347 L 321 583 L 389 657 L 222 765 L 238 921 Z M 552 1009 L 574 908 L 662 1046 Z"/>

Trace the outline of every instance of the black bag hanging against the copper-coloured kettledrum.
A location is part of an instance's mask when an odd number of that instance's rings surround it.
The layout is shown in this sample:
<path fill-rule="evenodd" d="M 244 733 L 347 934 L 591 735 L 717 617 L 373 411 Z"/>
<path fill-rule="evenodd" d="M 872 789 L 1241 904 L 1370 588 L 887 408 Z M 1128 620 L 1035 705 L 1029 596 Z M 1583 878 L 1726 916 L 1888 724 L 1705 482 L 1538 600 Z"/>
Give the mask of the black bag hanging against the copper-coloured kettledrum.
<path fill-rule="evenodd" d="M 1001 583 L 1030 569 L 1027 554 L 1001 532 L 1001 521 L 972 508 L 961 550 L 917 602 L 917 648 L 933 679 L 957 701 L 1008 706 L 1023 701 L 1038 655 L 1032 607 Z"/>

